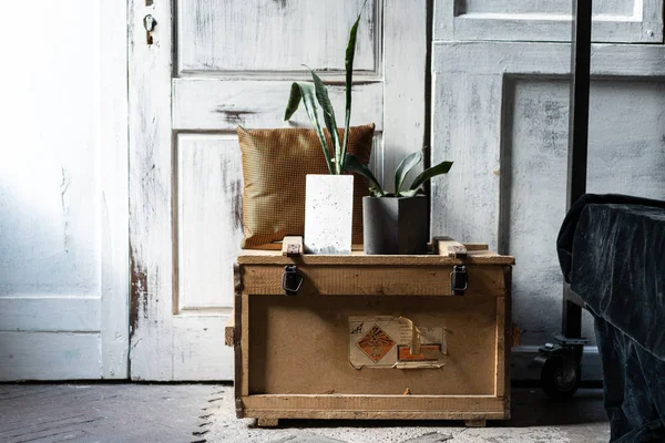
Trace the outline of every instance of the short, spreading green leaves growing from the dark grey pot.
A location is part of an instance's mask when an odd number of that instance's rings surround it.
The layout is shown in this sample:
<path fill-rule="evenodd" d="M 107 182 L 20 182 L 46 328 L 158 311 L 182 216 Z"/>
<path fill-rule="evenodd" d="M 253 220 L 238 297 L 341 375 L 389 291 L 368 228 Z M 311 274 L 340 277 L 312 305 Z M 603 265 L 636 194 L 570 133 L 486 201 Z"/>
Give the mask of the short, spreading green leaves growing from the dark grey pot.
<path fill-rule="evenodd" d="M 367 178 L 371 184 L 369 190 L 374 197 L 413 197 L 416 194 L 422 193 L 422 188 L 420 186 L 422 186 L 427 181 L 438 175 L 447 174 L 452 167 L 452 162 L 441 162 L 438 165 L 429 167 L 421 172 L 413 179 L 408 189 L 405 189 L 403 185 L 407 175 L 420 162 L 422 162 L 421 151 L 411 153 L 401 161 L 395 171 L 395 193 L 386 193 L 371 171 L 369 171 L 369 168 L 352 154 L 346 155 L 345 168 L 348 172 L 360 174 Z"/>

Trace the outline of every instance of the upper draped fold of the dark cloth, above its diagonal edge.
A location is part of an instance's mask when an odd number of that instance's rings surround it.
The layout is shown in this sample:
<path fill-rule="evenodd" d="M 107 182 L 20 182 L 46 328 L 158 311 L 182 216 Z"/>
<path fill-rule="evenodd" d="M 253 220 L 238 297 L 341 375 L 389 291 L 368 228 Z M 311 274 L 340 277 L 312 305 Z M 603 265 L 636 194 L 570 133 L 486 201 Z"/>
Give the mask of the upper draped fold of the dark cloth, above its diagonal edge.
<path fill-rule="evenodd" d="M 586 194 L 566 215 L 556 244 L 571 289 L 665 360 L 665 202 Z"/>

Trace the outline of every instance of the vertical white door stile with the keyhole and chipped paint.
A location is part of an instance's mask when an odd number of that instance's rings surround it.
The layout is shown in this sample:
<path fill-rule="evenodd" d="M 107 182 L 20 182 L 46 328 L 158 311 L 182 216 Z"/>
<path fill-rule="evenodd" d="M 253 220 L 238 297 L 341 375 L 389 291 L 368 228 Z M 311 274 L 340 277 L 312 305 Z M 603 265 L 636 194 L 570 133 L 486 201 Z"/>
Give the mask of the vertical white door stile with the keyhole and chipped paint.
<path fill-rule="evenodd" d="M 172 380 L 172 3 L 129 1 L 130 368 L 134 380 Z M 157 21 L 146 44 L 143 18 Z M 203 329 L 203 327 L 202 327 Z M 209 352 L 209 350 L 206 350 Z M 197 356 L 203 356 L 200 349 Z"/>

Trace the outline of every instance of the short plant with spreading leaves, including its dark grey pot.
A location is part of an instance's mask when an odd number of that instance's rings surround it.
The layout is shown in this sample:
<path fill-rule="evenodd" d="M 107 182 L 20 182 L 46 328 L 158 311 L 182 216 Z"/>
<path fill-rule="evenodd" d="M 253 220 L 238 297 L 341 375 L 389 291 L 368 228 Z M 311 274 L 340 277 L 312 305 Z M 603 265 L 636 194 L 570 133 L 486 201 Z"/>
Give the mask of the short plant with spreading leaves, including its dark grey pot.
<path fill-rule="evenodd" d="M 429 241 L 428 202 L 421 186 L 447 174 L 452 162 L 441 162 L 421 172 L 408 188 L 409 172 L 422 162 L 422 152 L 409 154 L 395 171 L 395 193 L 386 193 L 369 168 L 347 154 L 345 167 L 372 184 L 370 196 L 362 198 L 365 254 L 426 254 Z"/>

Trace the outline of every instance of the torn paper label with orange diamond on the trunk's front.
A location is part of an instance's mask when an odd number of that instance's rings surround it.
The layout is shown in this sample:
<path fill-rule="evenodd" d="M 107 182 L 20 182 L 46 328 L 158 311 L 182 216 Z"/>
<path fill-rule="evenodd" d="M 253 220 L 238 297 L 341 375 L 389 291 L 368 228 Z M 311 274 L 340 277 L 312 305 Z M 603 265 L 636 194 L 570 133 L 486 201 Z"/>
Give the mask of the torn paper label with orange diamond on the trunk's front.
<path fill-rule="evenodd" d="M 406 317 L 349 316 L 354 368 L 441 368 L 447 353 L 443 327 L 419 327 Z"/>

